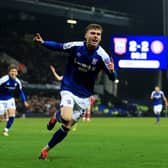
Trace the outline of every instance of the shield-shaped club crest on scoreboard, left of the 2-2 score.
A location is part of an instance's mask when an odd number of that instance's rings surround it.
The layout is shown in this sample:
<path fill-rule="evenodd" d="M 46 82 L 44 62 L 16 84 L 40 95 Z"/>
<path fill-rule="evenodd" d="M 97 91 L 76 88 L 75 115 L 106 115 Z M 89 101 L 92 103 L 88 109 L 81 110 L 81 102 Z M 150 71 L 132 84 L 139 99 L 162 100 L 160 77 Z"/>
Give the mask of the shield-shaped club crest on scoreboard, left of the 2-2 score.
<path fill-rule="evenodd" d="M 126 53 L 127 38 L 114 38 L 114 52 L 118 55 Z"/>

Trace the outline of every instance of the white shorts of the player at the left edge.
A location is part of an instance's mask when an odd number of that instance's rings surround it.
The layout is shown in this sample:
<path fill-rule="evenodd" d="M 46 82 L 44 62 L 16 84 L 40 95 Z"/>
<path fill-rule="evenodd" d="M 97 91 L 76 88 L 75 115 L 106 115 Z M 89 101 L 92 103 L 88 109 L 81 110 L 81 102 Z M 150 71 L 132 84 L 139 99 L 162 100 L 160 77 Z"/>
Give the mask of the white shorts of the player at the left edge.
<path fill-rule="evenodd" d="M 16 109 L 15 100 L 0 100 L 0 115 L 4 115 L 8 109 Z"/>

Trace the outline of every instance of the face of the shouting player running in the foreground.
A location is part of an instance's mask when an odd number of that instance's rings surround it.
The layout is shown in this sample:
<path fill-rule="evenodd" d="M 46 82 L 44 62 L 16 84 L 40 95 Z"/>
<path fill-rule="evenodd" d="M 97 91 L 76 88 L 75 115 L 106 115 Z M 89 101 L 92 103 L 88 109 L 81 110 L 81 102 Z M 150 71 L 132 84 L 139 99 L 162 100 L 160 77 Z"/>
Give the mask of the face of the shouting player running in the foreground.
<path fill-rule="evenodd" d="M 101 41 L 101 30 L 90 29 L 85 34 L 86 44 L 89 49 L 95 49 Z"/>

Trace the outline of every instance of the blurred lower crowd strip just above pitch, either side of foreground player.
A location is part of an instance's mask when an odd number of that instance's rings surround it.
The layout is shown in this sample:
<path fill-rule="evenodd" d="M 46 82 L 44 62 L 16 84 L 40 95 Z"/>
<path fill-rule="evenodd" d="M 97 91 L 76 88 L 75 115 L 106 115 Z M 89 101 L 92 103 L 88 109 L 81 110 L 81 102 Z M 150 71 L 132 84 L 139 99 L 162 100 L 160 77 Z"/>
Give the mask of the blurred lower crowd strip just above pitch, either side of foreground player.
<path fill-rule="evenodd" d="M 53 92 L 54 93 L 54 92 Z M 91 113 L 95 116 L 139 116 L 149 115 L 149 108 L 138 108 L 137 105 L 129 104 L 126 101 L 121 101 L 116 97 L 107 98 L 100 95 L 94 95 L 95 103 Z M 24 108 L 22 102 L 16 99 L 18 116 L 51 116 L 55 111 L 59 110 L 60 97 L 59 92 L 56 95 L 44 92 L 28 94 L 27 96 L 30 107 Z M 145 113 L 144 113 L 145 112 Z"/>

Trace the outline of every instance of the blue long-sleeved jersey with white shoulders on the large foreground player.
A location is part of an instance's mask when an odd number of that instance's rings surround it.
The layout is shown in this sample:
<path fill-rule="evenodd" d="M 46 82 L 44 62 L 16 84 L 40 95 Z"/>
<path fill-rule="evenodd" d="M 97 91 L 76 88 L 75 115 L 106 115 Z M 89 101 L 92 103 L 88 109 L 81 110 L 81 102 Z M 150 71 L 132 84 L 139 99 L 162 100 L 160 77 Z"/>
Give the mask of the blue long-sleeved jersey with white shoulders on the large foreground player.
<path fill-rule="evenodd" d="M 101 69 L 111 80 L 116 78 L 116 72 L 112 73 L 107 68 L 111 58 L 101 46 L 90 51 L 84 41 L 68 43 L 45 41 L 43 45 L 51 49 L 65 50 L 70 55 L 64 71 L 61 90 L 71 91 L 79 97 L 90 97 Z"/>

